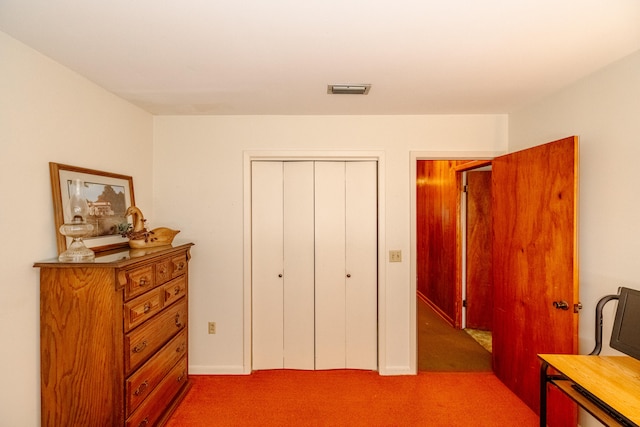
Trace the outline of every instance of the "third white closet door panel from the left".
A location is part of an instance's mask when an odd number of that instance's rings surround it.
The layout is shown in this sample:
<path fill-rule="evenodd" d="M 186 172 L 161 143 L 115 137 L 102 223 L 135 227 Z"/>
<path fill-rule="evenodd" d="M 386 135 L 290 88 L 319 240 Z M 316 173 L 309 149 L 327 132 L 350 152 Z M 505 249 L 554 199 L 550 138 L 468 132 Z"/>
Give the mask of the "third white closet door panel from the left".
<path fill-rule="evenodd" d="M 345 367 L 344 162 L 315 173 L 316 369 Z"/>

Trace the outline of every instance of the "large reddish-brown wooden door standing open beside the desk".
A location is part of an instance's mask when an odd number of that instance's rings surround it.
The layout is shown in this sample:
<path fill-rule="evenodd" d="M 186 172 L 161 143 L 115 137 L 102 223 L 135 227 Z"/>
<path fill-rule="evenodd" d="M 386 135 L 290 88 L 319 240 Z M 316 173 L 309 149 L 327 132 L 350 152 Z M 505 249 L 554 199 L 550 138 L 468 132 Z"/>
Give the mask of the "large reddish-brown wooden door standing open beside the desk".
<path fill-rule="evenodd" d="M 578 350 L 577 182 L 577 137 L 493 161 L 493 369 L 538 413 L 537 354 Z M 550 396 L 548 419 L 573 427 L 577 409 Z"/>

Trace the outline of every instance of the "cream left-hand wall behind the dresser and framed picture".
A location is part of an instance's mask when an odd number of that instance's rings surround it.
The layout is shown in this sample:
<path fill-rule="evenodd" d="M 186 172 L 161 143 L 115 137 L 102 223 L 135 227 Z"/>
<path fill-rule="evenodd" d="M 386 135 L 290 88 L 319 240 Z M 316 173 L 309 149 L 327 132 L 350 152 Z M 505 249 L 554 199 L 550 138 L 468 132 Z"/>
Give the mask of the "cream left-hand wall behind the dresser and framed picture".
<path fill-rule="evenodd" d="M 0 424 L 40 424 L 37 260 L 57 256 L 50 161 L 133 176 L 151 210 L 153 118 L 0 32 Z"/>

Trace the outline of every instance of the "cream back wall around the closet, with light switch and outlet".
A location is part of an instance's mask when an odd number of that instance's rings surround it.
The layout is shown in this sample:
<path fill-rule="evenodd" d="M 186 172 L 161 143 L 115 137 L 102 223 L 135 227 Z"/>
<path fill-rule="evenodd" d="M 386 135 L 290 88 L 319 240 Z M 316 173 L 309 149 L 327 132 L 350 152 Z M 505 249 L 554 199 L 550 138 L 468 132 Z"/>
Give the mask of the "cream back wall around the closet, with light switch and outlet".
<path fill-rule="evenodd" d="M 408 372 L 410 340 L 410 152 L 504 152 L 507 118 L 487 116 L 156 117 L 154 209 L 157 220 L 192 240 L 192 372 L 241 373 L 243 341 L 243 153 L 383 151 L 386 361 Z M 208 335 L 208 321 L 217 333 Z M 246 349 L 247 351 L 249 349 Z"/>

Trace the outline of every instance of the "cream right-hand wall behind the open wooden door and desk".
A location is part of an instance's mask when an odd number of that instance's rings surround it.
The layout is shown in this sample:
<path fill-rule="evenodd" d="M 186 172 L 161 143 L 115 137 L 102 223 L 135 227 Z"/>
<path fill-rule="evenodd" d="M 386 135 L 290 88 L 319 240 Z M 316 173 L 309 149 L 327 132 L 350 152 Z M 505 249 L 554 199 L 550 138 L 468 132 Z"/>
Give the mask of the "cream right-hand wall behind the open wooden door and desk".
<path fill-rule="evenodd" d="M 580 137 L 580 352 L 589 353 L 597 300 L 640 289 L 640 51 L 509 116 L 509 151 L 569 135 Z M 606 345 L 609 305 L 603 354 L 618 354 Z M 583 414 L 582 425 L 600 424 Z"/>

